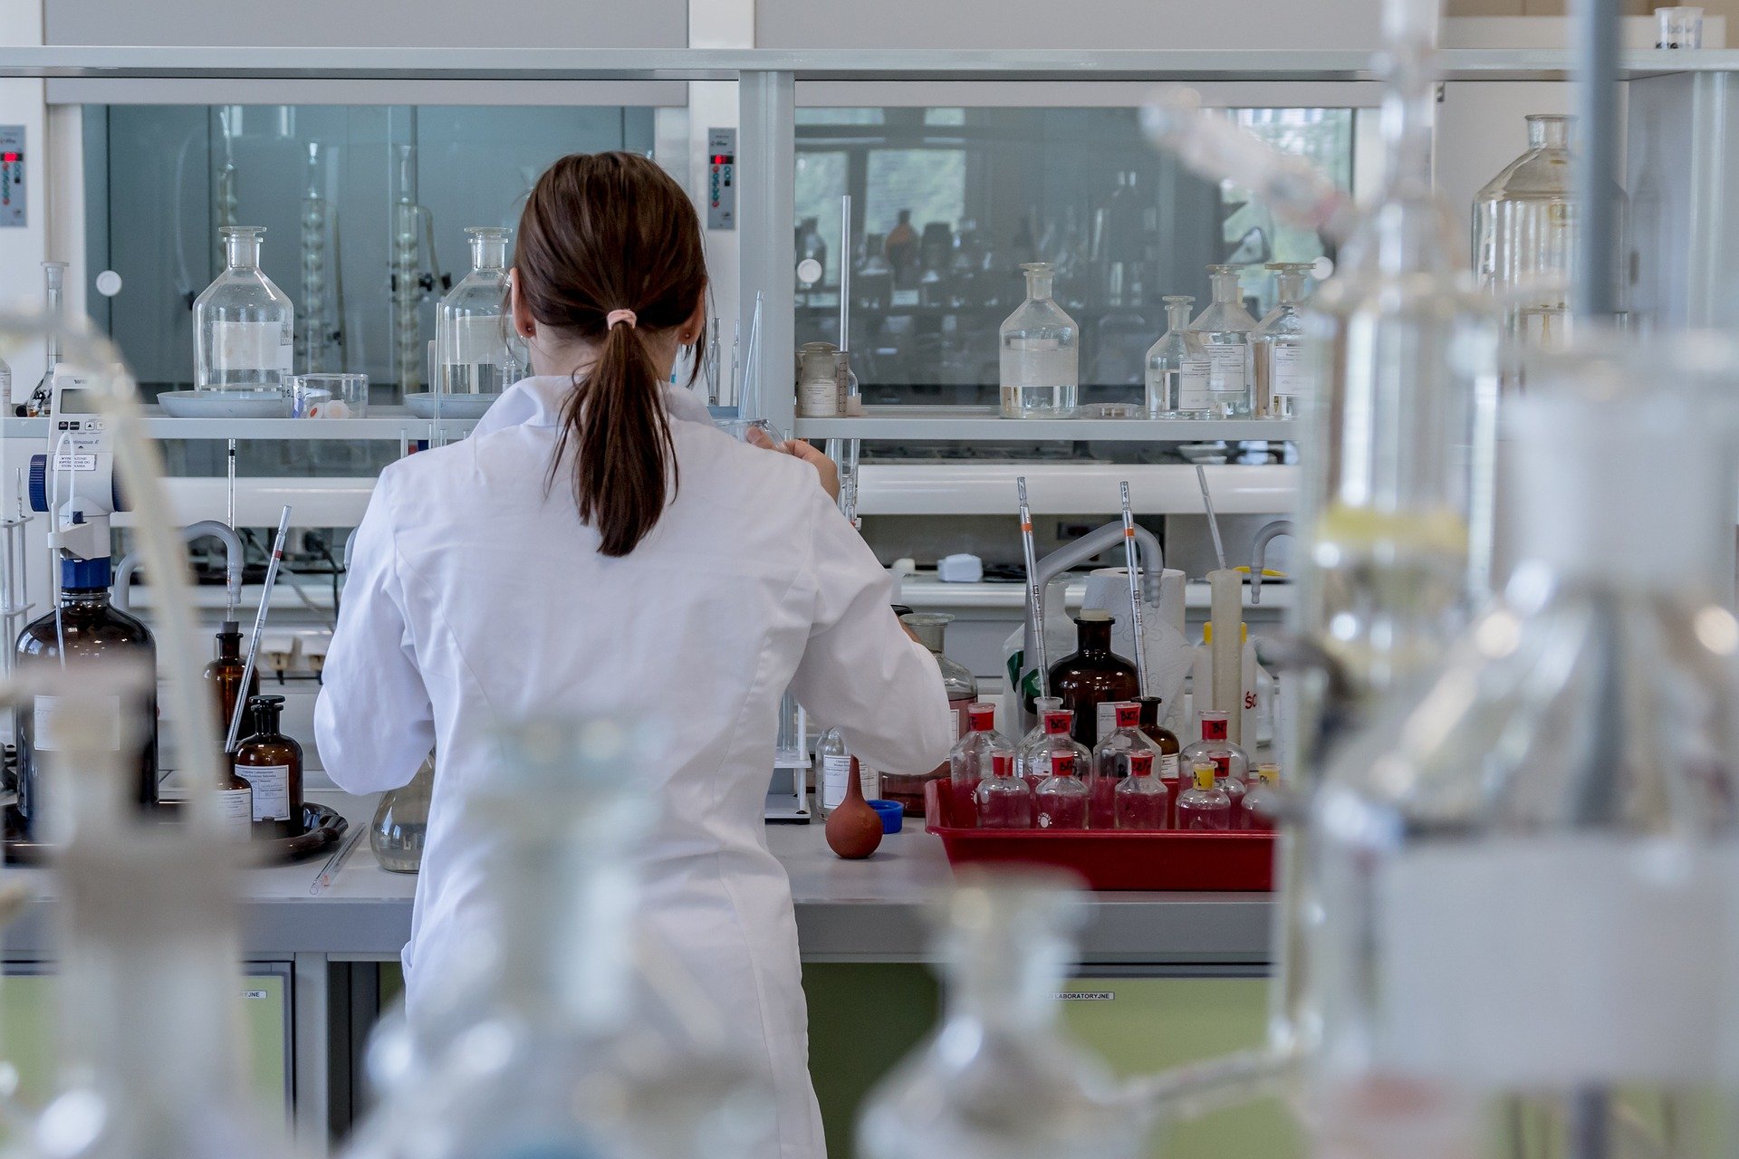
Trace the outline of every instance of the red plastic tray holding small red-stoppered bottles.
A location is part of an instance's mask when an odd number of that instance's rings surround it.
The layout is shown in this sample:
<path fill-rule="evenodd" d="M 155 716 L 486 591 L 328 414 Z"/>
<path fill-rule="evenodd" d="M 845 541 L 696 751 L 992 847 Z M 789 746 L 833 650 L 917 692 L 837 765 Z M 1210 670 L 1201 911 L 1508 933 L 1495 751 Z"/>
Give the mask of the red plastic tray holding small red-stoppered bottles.
<path fill-rule="evenodd" d="M 1127 832 L 1089 829 L 965 829 L 951 824 L 946 780 L 923 789 L 923 827 L 943 839 L 951 865 L 1061 865 L 1092 890 L 1273 890 L 1271 832 Z"/>

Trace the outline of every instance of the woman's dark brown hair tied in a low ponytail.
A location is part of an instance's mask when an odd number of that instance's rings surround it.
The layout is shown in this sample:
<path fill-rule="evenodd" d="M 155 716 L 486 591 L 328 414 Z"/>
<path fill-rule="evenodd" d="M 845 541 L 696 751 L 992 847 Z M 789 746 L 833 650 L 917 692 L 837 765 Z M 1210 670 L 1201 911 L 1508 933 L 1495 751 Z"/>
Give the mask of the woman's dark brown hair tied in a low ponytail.
<path fill-rule="evenodd" d="M 598 530 L 598 551 L 626 556 L 676 487 L 649 342 L 687 321 L 706 292 L 701 222 L 682 186 L 647 158 L 572 153 L 525 200 L 513 285 L 539 325 L 598 349 L 562 407 L 546 487 L 572 443 L 579 518 Z M 610 325 L 616 311 L 633 318 Z"/>

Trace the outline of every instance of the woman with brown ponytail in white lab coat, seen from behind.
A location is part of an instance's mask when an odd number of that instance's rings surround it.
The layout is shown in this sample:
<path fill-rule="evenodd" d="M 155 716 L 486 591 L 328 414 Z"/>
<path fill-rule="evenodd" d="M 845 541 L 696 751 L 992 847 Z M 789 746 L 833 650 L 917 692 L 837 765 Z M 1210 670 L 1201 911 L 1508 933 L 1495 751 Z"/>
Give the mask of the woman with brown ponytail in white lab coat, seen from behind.
<path fill-rule="evenodd" d="M 791 890 L 762 824 L 779 699 L 790 686 L 870 765 L 925 770 L 953 740 L 941 676 L 828 495 L 831 464 L 739 443 L 666 386 L 706 294 L 675 181 L 630 153 L 562 158 L 525 205 L 511 285 L 536 377 L 464 441 L 381 473 L 315 712 L 351 792 L 438 754 L 412 1022 L 485 919 L 490 851 L 463 798 L 494 773 L 490 725 L 657 712 L 664 756 L 623 770 L 663 801 L 645 921 L 776 1089 L 781 1157 L 819 1159 Z"/>

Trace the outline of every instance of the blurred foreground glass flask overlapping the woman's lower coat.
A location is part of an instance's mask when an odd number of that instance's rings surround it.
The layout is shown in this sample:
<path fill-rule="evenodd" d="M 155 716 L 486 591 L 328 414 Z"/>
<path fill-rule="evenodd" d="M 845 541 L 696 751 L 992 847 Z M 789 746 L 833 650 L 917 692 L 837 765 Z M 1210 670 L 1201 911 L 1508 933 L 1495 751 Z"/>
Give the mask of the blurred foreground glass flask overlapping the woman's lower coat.
<path fill-rule="evenodd" d="M 544 719 L 503 730 L 499 751 L 466 801 L 489 834 L 478 890 L 492 928 L 412 1006 L 412 1036 L 383 1044 L 409 1053 L 381 1067 L 393 1081 L 348 1154 L 772 1154 L 770 1093 L 640 980 L 652 959 L 636 950 L 635 850 L 656 803 L 624 770 L 654 737 Z"/>

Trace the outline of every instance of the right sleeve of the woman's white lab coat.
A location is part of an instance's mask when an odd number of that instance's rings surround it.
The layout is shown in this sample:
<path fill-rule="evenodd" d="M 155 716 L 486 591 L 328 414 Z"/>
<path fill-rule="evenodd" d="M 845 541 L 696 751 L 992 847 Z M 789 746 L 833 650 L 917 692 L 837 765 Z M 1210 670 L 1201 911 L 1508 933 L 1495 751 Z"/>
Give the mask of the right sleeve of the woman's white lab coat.
<path fill-rule="evenodd" d="M 826 492 L 812 490 L 814 612 L 791 692 L 866 765 L 929 772 L 955 744 L 943 674 L 889 606 L 887 572 L 875 553 Z"/>

